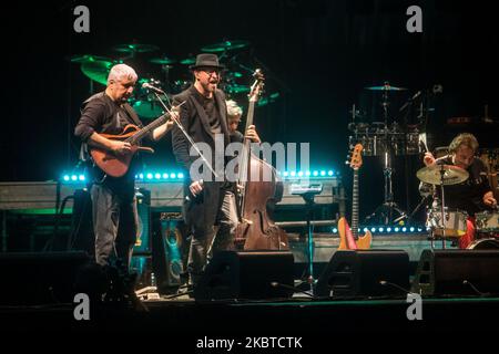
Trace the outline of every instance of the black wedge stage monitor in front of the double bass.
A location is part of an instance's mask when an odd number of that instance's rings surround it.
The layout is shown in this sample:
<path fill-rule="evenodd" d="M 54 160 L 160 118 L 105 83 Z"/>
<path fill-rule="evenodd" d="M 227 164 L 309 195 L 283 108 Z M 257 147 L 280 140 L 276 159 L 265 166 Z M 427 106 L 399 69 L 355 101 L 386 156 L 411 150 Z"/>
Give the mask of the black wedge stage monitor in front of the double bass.
<path fill-rule="evenodd" d="M 288 298 L 294 285 L 289 251 L 221 251 L 194 289 L 196 300 Z"/>

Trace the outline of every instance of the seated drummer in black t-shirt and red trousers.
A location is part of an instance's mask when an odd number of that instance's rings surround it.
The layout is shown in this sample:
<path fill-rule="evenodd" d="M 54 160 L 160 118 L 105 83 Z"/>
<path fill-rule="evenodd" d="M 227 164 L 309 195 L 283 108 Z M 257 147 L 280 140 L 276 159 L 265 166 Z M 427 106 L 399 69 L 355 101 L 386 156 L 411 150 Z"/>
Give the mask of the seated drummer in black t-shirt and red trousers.
<path fill-rule="evenodd" d="M 426 153 L 422 162 L 426 166 L 445 164 L 460 167 L 469 173 L 469 178 L 457 185 L 445 187 L 445 205 L 450 209 L 460 209 L 468 212 L 467 232 L 459 239 L 459 248 L 467 248 L 475 238 L 475 214 L 497 208 L 492 189 L 487 178 L 487 167 L 481 159 L 476 157 L 478 150 L 477 138 L 469 133 L 456 136 L 449 145 L 449 155 L 438 159 Z M 420 191 L 428 190 L 428 185 L 422 184 Z M 438 205 L 440 189 L 434 192 L 434 207 Z"/>

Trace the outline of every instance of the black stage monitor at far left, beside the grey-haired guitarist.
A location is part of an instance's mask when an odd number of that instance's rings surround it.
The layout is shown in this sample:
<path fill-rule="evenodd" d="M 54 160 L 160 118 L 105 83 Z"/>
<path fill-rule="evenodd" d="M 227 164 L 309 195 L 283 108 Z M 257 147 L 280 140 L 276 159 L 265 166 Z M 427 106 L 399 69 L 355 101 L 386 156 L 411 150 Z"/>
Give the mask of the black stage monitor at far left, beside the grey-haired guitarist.
<path fill-rule="evenodd" d="M 0 253 L 0 304 L 72 303 L 85 252 Z"/>

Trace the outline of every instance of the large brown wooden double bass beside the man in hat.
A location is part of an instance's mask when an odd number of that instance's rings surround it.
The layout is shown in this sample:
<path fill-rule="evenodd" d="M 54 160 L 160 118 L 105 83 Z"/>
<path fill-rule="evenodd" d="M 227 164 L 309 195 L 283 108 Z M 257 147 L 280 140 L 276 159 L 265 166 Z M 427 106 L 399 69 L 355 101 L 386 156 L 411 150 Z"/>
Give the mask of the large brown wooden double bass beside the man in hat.
<path fill-rule="evenodd" d="M 255 103 L 264 85 L 264 75 L 259 69 L 253 76 L 255 82 L 248 94 L 249 105 L 244 132 L 253 125 Z M 236 247 L 242 246 L 244 250 L 289 249 L 286 232 L 275 225 L 272 216 L 279 186 L 282 188 L 276 169 L 252 154 L 249 140 L 245 138 L 238 156 L 240 223 L 235 237 Z"/>

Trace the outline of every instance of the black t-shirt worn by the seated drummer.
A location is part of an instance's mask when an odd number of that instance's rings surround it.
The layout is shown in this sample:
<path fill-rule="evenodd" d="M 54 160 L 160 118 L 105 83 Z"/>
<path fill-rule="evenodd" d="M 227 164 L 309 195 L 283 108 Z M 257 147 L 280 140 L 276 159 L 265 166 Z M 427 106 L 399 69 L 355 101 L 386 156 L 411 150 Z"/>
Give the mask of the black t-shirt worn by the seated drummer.
<path fill-rule="evenodd" d="M 455 165 L 451 156 L 437 159 L 437 164 Z M 460 209 L 473 216 L 476 212 L 488 210 L 482 201 L 483 195 L 491 190 L 487 178 L 487 167 L 481 159 L 475 157 L 466 169 L 469 178 L 464 183 L 444 186 L 445 204 L 449 209 Z M 437 198 L 440 200 L 440 187 L 436 186 Z"/>

